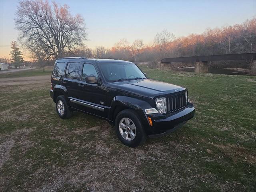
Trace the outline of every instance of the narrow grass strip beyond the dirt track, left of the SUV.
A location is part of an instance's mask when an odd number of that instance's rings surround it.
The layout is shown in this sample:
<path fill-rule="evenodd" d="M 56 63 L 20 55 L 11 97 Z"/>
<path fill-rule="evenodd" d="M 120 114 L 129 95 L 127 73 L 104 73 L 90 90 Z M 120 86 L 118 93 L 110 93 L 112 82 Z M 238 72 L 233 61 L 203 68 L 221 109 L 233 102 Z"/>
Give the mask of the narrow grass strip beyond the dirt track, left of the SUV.
<path fill-rule="evenodd" d="M 29 77 L 29 76 L 50 75 L 50 74 L 52 74 L 52 68 L 46 68 L 44 72 L 42 68 L 36 68 L 31 70 L 0 74 L 0 78 Z"/>

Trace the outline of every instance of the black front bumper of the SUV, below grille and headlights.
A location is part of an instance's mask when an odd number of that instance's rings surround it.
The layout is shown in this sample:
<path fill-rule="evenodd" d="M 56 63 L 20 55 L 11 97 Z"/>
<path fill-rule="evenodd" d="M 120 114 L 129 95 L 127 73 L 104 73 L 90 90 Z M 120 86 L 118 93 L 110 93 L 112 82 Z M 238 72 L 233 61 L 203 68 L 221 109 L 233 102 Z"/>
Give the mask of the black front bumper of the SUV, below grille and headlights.
<path fill-rule="evenodd" d="M 164 136 L 180 126 L 185 124 L 188 120 L 194 117 L 195 108 L 192 103 L 188 102 L 188 105 L 183 110 L 174 112 L 171 114 L 161 115 L 152 114 L 148 115 L 152 119 L 152 125 L 148 129 L 148 136 L 151 138 Z"/>

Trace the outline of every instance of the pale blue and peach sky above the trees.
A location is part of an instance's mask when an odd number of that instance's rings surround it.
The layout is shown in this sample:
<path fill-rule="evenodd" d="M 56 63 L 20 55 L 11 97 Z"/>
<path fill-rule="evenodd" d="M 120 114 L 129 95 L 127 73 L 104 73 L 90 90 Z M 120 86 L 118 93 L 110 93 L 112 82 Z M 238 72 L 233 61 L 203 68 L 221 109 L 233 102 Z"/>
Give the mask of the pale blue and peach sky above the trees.
<path fill-rule="evenodd" d="M 152 43 L 166 28 L 176 37 L 202 33 L 206 28 L 234 25 L 256 15 L 256 1 L 83 1 L 57 0 L 68 4 L 72 14 L 84 16 L 89 48 L 111 48 L 122 38 Z M 14 26 L 16 0 L 0 0 L 0 56 L 9 57 L 10 42 L 17 40 Z M 29 52 L 21 49 L 25 59 Z"/>

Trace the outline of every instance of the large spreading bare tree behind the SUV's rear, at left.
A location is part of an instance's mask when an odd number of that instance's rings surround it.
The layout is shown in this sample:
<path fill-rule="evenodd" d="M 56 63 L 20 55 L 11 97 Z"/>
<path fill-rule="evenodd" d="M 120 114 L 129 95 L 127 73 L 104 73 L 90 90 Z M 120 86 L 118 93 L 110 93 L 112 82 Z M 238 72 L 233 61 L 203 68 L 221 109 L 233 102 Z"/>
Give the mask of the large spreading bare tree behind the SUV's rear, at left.
<path fill-rule="evenodd" d="M 31 51 L 45 52 L 46 58 L 73 54 L 86 39 L 84 18 L 72 16 L 69 7 L 48 0 L 22 0 L 16 12 L 16 28 Z"/>

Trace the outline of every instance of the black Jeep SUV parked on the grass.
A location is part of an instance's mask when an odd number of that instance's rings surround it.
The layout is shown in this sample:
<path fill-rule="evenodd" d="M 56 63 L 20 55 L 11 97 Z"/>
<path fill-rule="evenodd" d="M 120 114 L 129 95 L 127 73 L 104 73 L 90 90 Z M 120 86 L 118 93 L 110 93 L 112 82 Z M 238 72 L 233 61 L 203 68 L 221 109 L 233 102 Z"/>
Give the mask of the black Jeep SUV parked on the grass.
<path fill-rule="evenodd" d="M 50 96 L 60 118 L 77 110 L 108 120 L 125 145 L 164 136 L 194 116 L 186 88 L 150 80 L 132 62 L 60 58 Z"/>

